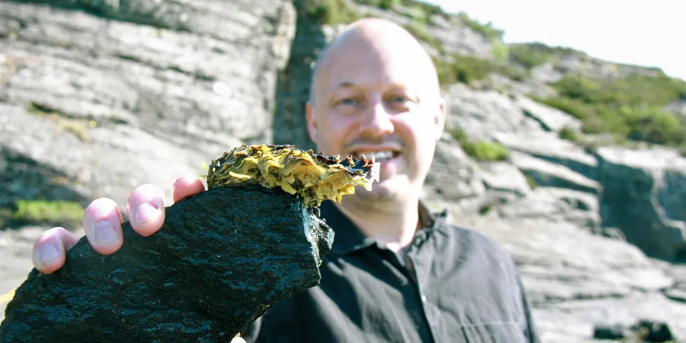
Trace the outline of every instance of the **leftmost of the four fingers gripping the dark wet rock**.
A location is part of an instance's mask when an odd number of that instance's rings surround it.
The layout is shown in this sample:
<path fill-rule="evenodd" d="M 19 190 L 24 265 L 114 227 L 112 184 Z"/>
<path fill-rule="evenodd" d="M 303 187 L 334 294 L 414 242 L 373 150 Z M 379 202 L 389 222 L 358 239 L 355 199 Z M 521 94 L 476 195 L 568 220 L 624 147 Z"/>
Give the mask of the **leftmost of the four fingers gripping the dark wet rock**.
<path fill-rule="evenodd" d="M 34 267 L 43 274 L 50 274 L 64 265 L 66 251 L 78 242 L 78 237 L 64 228 L 52 228 L 43 232 L 32 251 Z"/>

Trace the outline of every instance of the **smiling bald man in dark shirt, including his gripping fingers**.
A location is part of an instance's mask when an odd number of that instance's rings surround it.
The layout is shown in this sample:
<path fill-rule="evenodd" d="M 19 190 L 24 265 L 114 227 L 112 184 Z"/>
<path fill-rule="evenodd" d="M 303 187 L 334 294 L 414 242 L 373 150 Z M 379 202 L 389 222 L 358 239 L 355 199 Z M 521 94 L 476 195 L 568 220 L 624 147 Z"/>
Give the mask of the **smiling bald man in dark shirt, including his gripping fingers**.
<path fill-rule="evenodd" d="M 274 305 L 243 333 L 247 342 L 538 342 L 510 255 L 419 199 L 446 109 L 413 36 L 386 20 L 353 23 L 322 53 L 306 115 L 318 151 L 375 155 L 380 180 L 322 204 L 335 242 L 321 285 Z M 202 190 L 182 178 L 173 198 Z M 153 234 L 164 221 L 162 191 L 137 188 L 127 214 L 134 230 Z M 93 248 L 116 251 L 121 221 L 111 200 L 92 202 L 83 224 Z M 61 267 L 76 240 L 62 228 L 45 232 L 36 268 Z"/>

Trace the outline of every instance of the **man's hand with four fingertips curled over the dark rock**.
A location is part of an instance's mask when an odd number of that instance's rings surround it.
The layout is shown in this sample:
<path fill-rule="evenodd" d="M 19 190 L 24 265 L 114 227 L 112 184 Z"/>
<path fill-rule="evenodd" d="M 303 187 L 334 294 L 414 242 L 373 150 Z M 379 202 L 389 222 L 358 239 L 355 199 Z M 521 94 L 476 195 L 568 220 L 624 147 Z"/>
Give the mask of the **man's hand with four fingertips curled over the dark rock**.
<path fill-rule="evenodd" d="M 172 188 L 174 202 L 204 191 L 200 179 L 193 177 L 176 179 Z M 162 190 L 154 185 L 142 185 L 130 195 L 126 205 L 131 227 L 141 236 L 148 237 L 165 223 L 165 200 Z M 116 202 L 100 198 L 91 202 L 83 214 L 86 238 L 95 251 L 109 255 L 121 248 L 122 214 Z M 64 265 L 66 251 L 76 244 L 78 237 L 64 228 L 52 228 L 43 232 L 34 242 L 33 262 L 39 272 L 50 274 Z"/>

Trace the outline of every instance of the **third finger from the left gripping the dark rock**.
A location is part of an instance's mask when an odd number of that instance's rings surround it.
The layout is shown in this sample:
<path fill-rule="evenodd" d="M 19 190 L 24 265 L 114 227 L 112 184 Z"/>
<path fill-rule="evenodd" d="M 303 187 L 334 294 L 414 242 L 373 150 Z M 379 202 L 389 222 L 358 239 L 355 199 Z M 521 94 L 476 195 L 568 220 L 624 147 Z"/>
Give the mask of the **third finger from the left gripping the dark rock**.
<path fill-rule="evenodd" d="M 126 204 L 131 227 L 143 237 L 153 235 L 165 223 L 165 194 L 155 185 L 136 188 Z"/>

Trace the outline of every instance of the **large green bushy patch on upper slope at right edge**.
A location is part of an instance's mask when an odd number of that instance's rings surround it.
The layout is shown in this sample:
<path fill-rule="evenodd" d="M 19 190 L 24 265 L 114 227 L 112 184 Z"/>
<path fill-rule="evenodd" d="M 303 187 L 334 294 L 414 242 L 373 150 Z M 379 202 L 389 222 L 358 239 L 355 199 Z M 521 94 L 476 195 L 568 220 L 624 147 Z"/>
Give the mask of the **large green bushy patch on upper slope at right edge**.
<path fill-rule="evenodd" d="M 686 83 L 667 76 L 631 74 L 619 80 L 567 75 L 553 85 L 558 97 L 536 99 L 582 120 L 589 134 L 609 132 L 621 141 L 682 147 L 686 122 L 664 106 L 686 99 Z"/>

